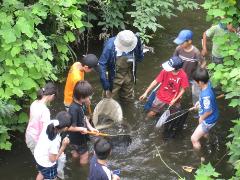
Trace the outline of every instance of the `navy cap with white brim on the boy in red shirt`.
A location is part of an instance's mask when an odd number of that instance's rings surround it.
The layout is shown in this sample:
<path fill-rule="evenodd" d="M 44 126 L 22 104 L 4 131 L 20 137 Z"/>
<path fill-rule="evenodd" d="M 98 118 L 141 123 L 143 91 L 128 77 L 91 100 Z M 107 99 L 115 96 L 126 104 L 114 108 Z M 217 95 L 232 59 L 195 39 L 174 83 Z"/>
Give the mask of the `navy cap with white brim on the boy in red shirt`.
<path fill-rule="evenodd" d="M 168 61 L 162 64 L 165 71 L 173 71 L 182 68 L 183 60 L 178 56 L 171 57 Z"/>

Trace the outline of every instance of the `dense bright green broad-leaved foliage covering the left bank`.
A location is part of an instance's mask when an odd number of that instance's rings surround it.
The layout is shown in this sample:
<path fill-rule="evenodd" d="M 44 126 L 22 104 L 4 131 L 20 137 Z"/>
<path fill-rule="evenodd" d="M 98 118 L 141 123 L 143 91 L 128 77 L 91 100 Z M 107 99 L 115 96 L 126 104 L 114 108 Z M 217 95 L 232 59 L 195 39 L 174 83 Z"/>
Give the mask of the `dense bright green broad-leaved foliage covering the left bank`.
<path fill-rule="evenodd" d="M 16 113 L 11 117 L 0 113 L 0 149 L 10 148 L 8 130 L 24 130 L 28 117 L 20 110 L 25 100 L 34 99 L 46 80 L 57 80 L 56 71 L 68 61 L 68 43 L 75 40 L 71 31 L 83 26 L 84 13 L 77 7 L 82 3 L 85 1 L 2 1 L 0 99 Z M 48 29 L 46 22 L 52 22 Z"/>

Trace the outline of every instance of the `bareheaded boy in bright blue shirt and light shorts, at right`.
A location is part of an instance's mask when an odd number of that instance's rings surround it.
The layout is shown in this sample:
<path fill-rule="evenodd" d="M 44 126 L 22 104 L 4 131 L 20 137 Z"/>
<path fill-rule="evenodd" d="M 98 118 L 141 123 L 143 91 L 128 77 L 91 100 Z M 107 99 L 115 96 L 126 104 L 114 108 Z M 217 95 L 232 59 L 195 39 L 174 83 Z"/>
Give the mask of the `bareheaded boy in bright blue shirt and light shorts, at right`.
<path fill-rule="evenodd" d="M 193 74 L 193 80 L 196 81 L 201 89 L 199 102 L 195 107 L 199 109 L 199 125 L 191 136 L 193 148 L 201 149 L 201 137 L 207 137 L 209 130 L 216 124 L 218 119 L 218 107 L 215 94 L 209 82 L 208 71 L 198 68 Z"/>

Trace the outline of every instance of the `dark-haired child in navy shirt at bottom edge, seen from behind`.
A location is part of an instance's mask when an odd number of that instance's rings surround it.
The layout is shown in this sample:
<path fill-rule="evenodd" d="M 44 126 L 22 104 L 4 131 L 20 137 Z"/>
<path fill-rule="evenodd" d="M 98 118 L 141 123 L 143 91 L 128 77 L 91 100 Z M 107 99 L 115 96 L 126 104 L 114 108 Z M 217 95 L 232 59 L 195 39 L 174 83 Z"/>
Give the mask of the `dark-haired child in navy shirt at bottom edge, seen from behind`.
<path fill-rule="evenodd" d="M 94 144 L 94 156 L 90 162 L 89 180 L 119 180 L 119 176 L 107 167 L 107 158 L 112 150 L 111 144 L 104 138 L 99 138 Z"/>

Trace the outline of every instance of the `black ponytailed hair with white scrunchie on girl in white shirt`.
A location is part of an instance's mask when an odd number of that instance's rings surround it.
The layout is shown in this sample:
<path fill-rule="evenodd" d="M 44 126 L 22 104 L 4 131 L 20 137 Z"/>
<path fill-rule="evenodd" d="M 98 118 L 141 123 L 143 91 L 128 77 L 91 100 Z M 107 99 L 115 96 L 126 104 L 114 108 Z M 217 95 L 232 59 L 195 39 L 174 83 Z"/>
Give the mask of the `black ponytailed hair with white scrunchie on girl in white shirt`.
<path fill-rule="evenodd" d="M 52 123 L 48 125 L 46 133 L 49 140 L 54 140 L 58 134 L 58 130 L 61 130 L 65 127 L 70 127 L 71 125 L 71 116 L 66 111 L 60 111 L 56 115 L 55 120 L 51 120 Z"/>

